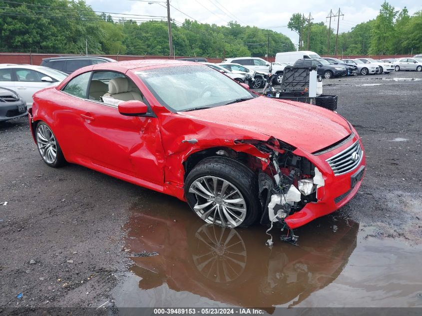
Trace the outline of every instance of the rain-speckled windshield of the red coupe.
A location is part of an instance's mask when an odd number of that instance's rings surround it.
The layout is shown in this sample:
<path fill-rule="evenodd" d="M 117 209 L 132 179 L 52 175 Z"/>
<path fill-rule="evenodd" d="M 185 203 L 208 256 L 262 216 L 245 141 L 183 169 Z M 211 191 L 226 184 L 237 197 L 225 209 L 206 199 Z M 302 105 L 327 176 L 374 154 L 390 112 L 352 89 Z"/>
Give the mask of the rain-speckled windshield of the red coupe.
<path fill-rule="evenodd" d="M 154 97 L 173 112 L 222 106 L 254 94 L 209 67 L 189 65 L 137 71 Z"/>

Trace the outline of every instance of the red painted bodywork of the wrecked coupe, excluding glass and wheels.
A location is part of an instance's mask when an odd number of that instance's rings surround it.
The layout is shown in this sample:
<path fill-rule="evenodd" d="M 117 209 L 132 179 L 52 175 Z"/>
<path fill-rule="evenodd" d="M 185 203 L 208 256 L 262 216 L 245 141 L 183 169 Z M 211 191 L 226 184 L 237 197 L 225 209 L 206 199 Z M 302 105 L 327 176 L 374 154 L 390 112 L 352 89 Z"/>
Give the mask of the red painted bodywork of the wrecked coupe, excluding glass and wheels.
<path fill-rule="evenodd" d="M 135 71 L 144 69 L 185 64 L 191 63 L 131 61 L 81 68 L 59 86 L 34 94 L 29 113 L 32 134 L 36 122 L 44 121 L 54 132 L 68 162 L 184 201 L 184 179 L 191 167 L 189 160 L 194 155 L 206 152 L 207 155 L 221 153 L 234 159 L 242 156 L 257 177 L 264 173 L 267 183 L 273 181 L 272 185 L 267 185 L 268 190 L 277 186 L 277 177 L 273 178 L 276 171 L 272 164 L 274 157 L 284 157 L 289 163 L 292 159 L 297 160 L 291 157 L 299 157 L 299 160 L 302 157 L 310 162 L 309 166 L 312 164 L 318 168 L 325 185 L 313 193 L 315 201 L 292 206 L 289 216 L 284 218 L 284 223 L 291 229 L 337 210 L 357 192 L 362 177 L 351 188 L 354 171 L 335 176 L 326 161 L 352 143 L 360 142 L 356 131 L 343 117 L 321 107 L 263 96 L 209 109 L 171 112 L 135 74 Z M 113 70 L 128 76 L 138 86 L 156 117 L 124 116 L 117 107 L 60 90 L 76 75 L 92 70 Z M 351 134 L 354 134 L 353 138 L 349 137 Z M 348 141 L 333 150 L 313 154 L 348 137 Z M 364 153 L 354 170 L 361 166 L 365 166 Z M 289 169 L 286 163 L 280 165 L 276 168 L 280 169 L 278 177 L 288 176 L 292 168 Z M 301 179 L 312 179 L 315 175 L 313 171 L 299 173 Z M 298 179 L 292 180 L 295 187 Z M 335 202 L 347 192 L 341 201 Z M 263 203 L 263 212 L 267 210 L 269 198 Z"/>

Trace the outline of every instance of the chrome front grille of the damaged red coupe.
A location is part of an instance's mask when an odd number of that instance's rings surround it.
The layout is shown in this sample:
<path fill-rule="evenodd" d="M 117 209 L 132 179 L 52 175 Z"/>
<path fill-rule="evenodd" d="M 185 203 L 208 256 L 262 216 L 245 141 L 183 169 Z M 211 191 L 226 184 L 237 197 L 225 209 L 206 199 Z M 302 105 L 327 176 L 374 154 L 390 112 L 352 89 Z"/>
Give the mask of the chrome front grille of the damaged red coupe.
<path fill-rule="evenodd" d="M 358 140 L 349 148 L 346 148 L 326 161 L 331 169 L 333 169 L 334 174 L 339 176 L 354 170 L 361 163 L 362 157 L 363 152 Z"/>

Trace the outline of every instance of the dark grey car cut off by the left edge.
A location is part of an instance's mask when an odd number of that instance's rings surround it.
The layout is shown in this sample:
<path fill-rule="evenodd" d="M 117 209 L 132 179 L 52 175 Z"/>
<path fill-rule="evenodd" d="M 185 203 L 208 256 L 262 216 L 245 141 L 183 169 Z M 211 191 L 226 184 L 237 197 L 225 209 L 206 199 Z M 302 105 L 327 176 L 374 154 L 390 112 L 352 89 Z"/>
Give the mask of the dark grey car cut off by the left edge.
<path fill-rule="evenodd" d="M 0 87 L 0 121 L 27 115 L 25 101 L 13 90 Z"/>

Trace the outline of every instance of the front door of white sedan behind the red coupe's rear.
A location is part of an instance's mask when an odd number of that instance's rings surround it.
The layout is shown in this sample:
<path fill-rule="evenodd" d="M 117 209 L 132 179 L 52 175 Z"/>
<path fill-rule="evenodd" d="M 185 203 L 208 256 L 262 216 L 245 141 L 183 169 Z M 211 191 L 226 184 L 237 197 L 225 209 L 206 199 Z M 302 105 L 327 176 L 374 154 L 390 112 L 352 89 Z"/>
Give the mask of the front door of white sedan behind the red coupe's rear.
<path fill-rule="evenodd" d="M 23 98 L 28 107 L 32 106 L 32 95 L 52 85 L 51 82 L 42 81 L 46 75 L 26 68 L 13 68 L 15 91 Z"/>

